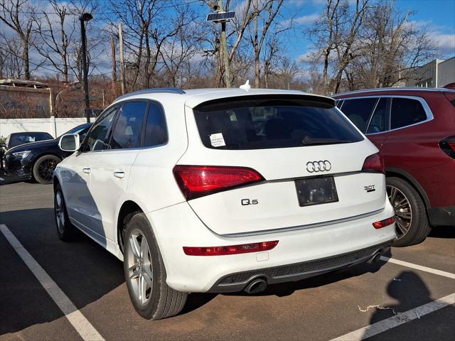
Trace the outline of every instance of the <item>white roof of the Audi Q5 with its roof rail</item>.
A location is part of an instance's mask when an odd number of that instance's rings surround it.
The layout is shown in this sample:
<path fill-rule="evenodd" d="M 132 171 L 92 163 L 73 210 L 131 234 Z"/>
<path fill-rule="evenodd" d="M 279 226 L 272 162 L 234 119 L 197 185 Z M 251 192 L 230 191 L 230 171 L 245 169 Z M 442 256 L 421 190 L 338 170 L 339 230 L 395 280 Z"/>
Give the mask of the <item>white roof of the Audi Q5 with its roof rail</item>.
<path fill-rule="evenodd" d="M 252 96 L 257 94 L 296 94 L 311 97 L 313 99 L 319 98 L 332 102 L 330 97 L 321 96 L 319 94 L 308 94 L 299 90 L 275 90 L 275 89 L 250 89 L 243 90 L 239 88 L 209 88 L 209 89 L 146 89 L 139 90 L 138 92 L 131 92 L 118 97 L 115 102 L 127 99 L 147 98 L 164 101 L 166 99 L 172 101 L 181 101 L 188 107 L 196 107 L 198 104 L 208 102 L 213 99 L 221 99 L 228 97 Z M 333 105 L 335 102 L 333 101 Z"/>

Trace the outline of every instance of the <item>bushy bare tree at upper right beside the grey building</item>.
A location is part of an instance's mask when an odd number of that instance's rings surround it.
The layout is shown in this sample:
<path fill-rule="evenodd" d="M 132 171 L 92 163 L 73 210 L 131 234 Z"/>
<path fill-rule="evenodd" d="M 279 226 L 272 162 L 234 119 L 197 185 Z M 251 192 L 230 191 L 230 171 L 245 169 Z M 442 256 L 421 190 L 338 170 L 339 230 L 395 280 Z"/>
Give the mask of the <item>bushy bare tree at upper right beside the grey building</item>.
<path fill-rule="evenodd" d="M 365 18 L 358 53 L 346 75 L 350 87 L 390 87 L 416 77 L 413 70 L 437 57 L 427 28 L 410 22 L 395 1 L 375 4 Z"/>

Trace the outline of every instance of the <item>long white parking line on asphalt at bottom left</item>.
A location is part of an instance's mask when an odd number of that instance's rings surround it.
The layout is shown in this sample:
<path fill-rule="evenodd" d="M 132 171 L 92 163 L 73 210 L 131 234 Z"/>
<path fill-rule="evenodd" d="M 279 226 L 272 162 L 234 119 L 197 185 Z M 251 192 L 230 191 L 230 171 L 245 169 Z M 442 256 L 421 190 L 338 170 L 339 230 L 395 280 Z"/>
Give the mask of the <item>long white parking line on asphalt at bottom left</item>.
<path fill-rule="evenodd" d="M 11 247 L 21 257 L 23 262 L 28 266 L 33 275 L 38 278 L 41 286 L 45 288 L 49 296 L 53 299 L 58 308 L 62 310 L 65 317 L 70 321 L 75 330 L 79 333 L 83 340 L 105 340 L 99 332 L 92 326 L 92 324 L 85 318 L 70 298 L 65 295 L 62 289 L 59 288 L 57 283 L 44 271 L 44 269 L 38 264 L 38 262 L 28 253 L 28 251 L 22 246 L 21 242 L 14 236 L 14 234 L 6 227 L 5 224 L 0 224 L 0 231 L 4 234 L 6 240 L 8 240 Z"/>

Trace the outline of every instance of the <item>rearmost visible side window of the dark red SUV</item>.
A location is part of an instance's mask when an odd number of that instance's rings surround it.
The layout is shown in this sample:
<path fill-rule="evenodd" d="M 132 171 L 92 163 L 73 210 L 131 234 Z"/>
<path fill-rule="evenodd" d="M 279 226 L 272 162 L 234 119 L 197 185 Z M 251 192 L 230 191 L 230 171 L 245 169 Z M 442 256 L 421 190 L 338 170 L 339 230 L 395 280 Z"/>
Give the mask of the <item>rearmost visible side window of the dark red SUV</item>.
<path fill-rule="evenodd" d="M 390 129 L 410 126 L 427 119 L 422 103 L 410 98 L 392 98 L 390 115 Z"/>

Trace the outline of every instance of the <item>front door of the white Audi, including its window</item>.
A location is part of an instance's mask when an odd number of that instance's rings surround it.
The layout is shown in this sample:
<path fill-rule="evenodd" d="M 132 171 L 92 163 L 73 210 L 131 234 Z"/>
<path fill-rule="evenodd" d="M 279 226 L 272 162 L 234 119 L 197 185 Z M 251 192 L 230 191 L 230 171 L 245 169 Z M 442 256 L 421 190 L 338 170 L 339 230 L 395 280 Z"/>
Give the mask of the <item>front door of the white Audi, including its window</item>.
<path fill-rule="evenodd" d="M 62 167 L 63 194 L 71 222 L 105 245 L 105 234 L 94 224 L 100 215 L 91 188 L 92 167 L 97 164 L 102 151 L 107 148 L 107 138 L 118 106 L 109 107 L 95 121 L 82 142 L 80 151 L 68 158 Z"/>

